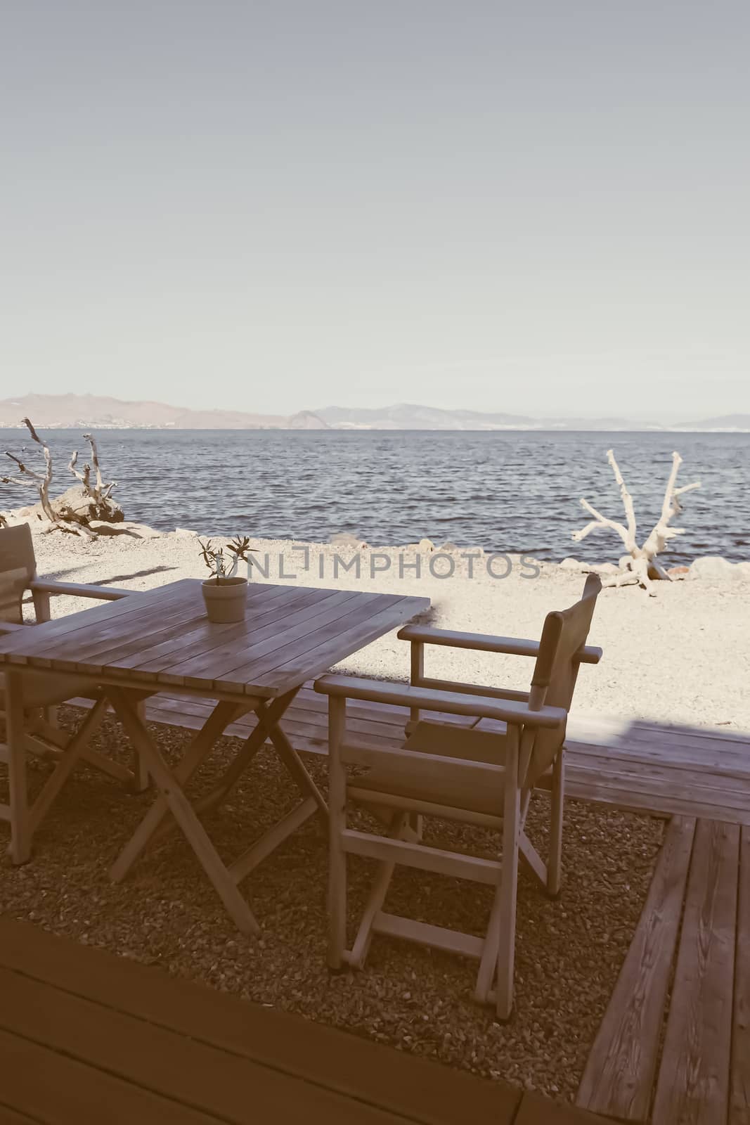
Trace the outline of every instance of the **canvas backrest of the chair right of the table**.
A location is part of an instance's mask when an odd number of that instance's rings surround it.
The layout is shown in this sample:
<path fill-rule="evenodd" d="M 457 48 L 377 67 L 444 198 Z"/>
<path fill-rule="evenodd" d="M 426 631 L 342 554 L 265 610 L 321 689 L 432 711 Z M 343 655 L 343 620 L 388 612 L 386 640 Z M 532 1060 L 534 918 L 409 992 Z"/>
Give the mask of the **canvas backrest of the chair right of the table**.
<path fill-rule="evenodd" d="M 579 602 L 568 610 L 555 610 L 544 619 L 539 655 L 532 677 L 532 701 L 548 706 L 570 710 L 576 688 L 580 650 L 586 645 L 596 600 L 602 590 L 598 575 L 589 574 Z M 533 706 L 532 702 L 532 706 Z M 539 730 L 526 775 L 526 783 L 534 784 L 549 768 L 558 753 L 564 731 Z"/>

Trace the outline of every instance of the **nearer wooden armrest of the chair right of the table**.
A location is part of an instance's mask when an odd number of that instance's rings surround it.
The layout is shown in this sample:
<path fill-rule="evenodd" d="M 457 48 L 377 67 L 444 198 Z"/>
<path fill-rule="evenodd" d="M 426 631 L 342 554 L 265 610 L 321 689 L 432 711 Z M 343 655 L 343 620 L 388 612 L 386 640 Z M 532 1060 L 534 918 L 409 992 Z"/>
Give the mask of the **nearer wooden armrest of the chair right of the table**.
<path fill-rule="evenodd" d="M 430 711 L 443 711 L 445 714 L 499 719 L 500 722 L 515 726 L 525 723 L 531 727 L 554 728 L 562 726 L 568 717 L 568 712 L 561 706 L 543 706 L 539 711 L 532 711 L 527 704 L 513 700 L 500 701 L 488 695 L 432 691 L 428 687 L 410 687 L 408 684 L 363 680 L 359 676 L 323 676 L 316 681 L 315 691 L 323 695 L 390 703 L 392 706 L 424 708 Z"/>

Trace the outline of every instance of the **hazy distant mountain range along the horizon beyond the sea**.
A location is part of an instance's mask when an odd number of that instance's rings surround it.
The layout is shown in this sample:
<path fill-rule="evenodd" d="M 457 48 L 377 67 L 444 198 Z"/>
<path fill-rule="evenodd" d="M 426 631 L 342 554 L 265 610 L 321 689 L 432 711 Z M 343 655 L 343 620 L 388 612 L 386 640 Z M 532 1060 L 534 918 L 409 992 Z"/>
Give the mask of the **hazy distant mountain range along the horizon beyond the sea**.
<path fill-rule="evenodd" d="M 379 408 L 325 406 L 296 414 L 192 411 L 165 403 L 101 395 L 24 395 L 0 400 L 0 428 L 30 417 L 42 429 L 92 430 L 677 430 L 750 432 L 750 414 L 665 424 L 626 417 L 551 418 L 523 414 L 443 411 L 399 403 Z"/>

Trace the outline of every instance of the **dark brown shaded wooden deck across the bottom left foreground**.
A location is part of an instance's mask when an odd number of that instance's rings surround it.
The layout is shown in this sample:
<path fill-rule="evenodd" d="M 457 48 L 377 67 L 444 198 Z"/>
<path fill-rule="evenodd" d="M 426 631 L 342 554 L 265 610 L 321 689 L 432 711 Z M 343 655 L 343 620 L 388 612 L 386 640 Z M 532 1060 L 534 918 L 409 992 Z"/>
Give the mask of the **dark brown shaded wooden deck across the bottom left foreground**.
<path fill-rule="evenodd" d="M 0 919 L 2 1125 L 597 1118 Z"/>

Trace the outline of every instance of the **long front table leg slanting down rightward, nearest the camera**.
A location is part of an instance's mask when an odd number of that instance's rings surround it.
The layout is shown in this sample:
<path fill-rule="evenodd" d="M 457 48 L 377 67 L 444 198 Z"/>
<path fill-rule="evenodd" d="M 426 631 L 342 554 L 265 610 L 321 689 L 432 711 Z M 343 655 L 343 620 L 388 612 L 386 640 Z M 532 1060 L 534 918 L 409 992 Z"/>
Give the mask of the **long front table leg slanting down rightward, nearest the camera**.
<path fill-rule="evenodd" d="M 110 688 L 109 696 L 129 738 L 143 755 L 154 784 L 166 801 L 172 816 L 182 829 L 235 925 L 244 934 L 259 934 L 260 926 L 252 910 L 237 890 L 218 852 L 211 844 L 208 832 L 190 807 L 180 783 L 165 765 L 151 736 L 139 721 L 133 703 L 119 688 Z"/>

